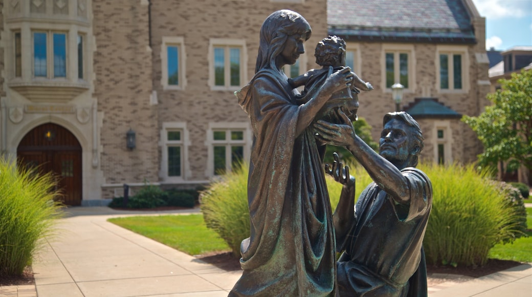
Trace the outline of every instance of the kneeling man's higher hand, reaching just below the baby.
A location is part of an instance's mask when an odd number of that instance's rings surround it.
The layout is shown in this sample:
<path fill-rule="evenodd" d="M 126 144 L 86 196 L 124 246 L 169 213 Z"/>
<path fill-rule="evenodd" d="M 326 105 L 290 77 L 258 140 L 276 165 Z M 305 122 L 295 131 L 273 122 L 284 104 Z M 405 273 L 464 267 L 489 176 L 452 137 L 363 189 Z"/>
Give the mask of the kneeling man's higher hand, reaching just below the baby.
<path fill-rule="evenodd" d="M 353 123 L 351 123 L 351 120 L 342 109 L 338 110 L 338 116 L 342 119 L 343 123 L 335 124 L 324 120 L 319 120 L 314 123 L 314 130 L 318 141 L 343 147 L 353 144 L 356 136 Z"/>

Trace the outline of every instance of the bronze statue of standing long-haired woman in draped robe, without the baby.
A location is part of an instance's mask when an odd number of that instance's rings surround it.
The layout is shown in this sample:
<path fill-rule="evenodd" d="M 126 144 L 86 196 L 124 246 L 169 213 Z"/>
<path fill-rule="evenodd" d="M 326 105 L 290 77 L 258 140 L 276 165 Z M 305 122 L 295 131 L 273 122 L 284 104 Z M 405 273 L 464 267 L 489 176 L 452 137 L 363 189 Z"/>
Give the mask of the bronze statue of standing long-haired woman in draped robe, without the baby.
<path fill-rule="evenodd" d="M 304 53 L 311 28 L 280 10 L 260 31 L 255 76 L 236 92 L 251 119 L 248 178 L 251 236 L 242 241 L 243 274 L 229 296 L 335 294 L 335 236 L 325 175 L 310 123 L 332 93 L 350 87 L 349 68 L 332 71 L 304 104 L 282 71 Z"/>

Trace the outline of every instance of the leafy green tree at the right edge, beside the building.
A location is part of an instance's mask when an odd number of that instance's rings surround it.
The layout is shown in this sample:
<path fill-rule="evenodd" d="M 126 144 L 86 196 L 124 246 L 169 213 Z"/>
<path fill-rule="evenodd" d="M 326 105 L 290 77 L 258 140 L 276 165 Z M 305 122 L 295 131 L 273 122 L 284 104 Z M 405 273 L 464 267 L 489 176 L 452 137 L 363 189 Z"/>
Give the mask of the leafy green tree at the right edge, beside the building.
<path fill-rule="evenodd" d="M 510 79 L 498 81 L 502 89 L 488 94 L 494 104 L 478 117 L 464 116 L 484 145 L 478 155 L 483 167 L 496 167 L 508 162 L 509 170 L 520 165 L 532 169 L 532 70 L 512 73 Z"/>

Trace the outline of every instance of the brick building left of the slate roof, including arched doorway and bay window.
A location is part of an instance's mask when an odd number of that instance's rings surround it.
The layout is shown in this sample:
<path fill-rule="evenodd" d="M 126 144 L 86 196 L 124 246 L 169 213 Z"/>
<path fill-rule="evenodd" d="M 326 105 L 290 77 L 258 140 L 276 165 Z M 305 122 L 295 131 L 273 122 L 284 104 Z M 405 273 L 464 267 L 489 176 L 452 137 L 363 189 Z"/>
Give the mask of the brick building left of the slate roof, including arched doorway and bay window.
<path fill-rule="evenodd" d="M 123 184 L 207 183 L 248 158 L 249 120 L 233 93 L 254 74 L 263 20 L 279 9 L 300 12 L 316 44 L 327 36 L 326 7 L 0 1 L 0 151 L 60 175 L 71 205 L 105 204 Z M 314 67 L 301 61 L 287 71 Z"/>

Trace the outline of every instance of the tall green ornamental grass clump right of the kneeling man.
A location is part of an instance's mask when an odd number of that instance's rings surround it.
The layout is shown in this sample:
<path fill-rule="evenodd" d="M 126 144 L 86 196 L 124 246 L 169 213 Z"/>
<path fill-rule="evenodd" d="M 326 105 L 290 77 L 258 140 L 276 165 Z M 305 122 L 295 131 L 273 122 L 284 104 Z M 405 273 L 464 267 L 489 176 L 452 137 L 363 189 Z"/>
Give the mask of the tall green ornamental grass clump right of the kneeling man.
<path fill-rule="evenodd" d="M 433 188 L 423 246 L 431 265 L 481 266 L 489 250 L 514 237 L 516 211 L 489 172 L 475 166 L 422 164 Z"/>

